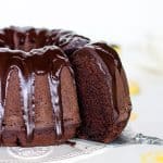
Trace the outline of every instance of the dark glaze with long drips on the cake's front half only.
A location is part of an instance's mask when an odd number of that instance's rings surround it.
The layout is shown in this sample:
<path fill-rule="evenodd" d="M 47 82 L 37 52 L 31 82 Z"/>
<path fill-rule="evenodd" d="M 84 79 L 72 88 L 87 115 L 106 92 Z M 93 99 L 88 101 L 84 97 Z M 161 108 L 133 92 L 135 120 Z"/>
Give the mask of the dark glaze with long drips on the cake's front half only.
<path fill-rule="evenodd" d="M 3 116 L 8 82 L 12 71 L 18 72 L 23 120 L 26 127 L 27 139 L 32 140 L 35 129 L 35 75 L 48 74 L 51 92 L 51 103 L 54 116 L 54 130 L 57 136 L 63 134 L 62 103 L 60 88 L 60 74 L 63 66 L 70 66 L 67 58 L 55 46 L 34 49 L 30 52 L 20 50 L 0 49 L 0 134 L 3 130 Z"/>

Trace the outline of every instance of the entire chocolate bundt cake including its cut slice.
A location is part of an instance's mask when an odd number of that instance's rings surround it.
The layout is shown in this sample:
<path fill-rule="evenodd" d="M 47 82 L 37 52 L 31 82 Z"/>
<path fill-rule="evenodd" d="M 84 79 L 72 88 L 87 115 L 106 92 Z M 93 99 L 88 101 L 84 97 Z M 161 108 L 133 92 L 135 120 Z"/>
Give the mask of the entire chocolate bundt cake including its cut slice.
<path fill-rule="evenodd" d="M 1 29 L 0 90 L 1 146 L 110 142 L 130 114 L 117 53 L 68 30 Z"/>

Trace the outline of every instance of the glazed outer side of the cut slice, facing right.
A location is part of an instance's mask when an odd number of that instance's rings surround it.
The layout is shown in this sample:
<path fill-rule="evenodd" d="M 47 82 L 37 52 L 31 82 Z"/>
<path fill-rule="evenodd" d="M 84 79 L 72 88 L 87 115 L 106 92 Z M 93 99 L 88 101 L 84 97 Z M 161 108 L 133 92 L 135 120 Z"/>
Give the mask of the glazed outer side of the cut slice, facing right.
<path fill-rule="evenodd" d="M 122 120 L 122 116 L 125 116 L 125 113 L 130 113 L 131 110 L 129 89 L 127 85 L 128 82 L 124 67 L 116 51 L 109 47 L 105 42 L 97 42 L 93 45 L 96 46 L 96 49 L 104 63 L 108 65 L 108 68 L 111 70 L 111 74 L 114 78 L 112 88 L 114 108 L 118 112 L 118 116 L 121 116 L 120 118 Z"/>

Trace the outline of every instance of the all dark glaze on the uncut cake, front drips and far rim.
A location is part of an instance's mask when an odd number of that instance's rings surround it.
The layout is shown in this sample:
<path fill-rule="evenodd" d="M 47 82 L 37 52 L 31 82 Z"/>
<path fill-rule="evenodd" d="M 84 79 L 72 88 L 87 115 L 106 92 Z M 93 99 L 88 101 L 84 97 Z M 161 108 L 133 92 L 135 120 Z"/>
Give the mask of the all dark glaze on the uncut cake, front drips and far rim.
<path fill-rule="evenodd" d="M 35 129 L 35 75 L 48 74 L 51 103 L 54 114 L 57 136 L 63 134 L 62 106 L 60 95 L 60 73 L 67 63 L 63 53 L 52 46 L 59 46 L 71 54 L 89 42 L 88 38 L 70 30 L 11 26 L 0 30 L 0 136 L 3 130 L 3 116 L 8 80 L 13 70 L 18 72 L 23 118 L 27 138 L 32 140 Z M 49 46 L 49 47 L 45 47 Z M 45 47 L 45 48 L 42 48 Z M 8 49 L 9 48 L 9 49 Z M 41 48 L 41 49 L 39 49 Z M 66 60 L 66 61 L 65 61 Z M 72 73 L 72 70 L 70 67 Z M 54 98 L 53 98 L 54 97 Z"/>

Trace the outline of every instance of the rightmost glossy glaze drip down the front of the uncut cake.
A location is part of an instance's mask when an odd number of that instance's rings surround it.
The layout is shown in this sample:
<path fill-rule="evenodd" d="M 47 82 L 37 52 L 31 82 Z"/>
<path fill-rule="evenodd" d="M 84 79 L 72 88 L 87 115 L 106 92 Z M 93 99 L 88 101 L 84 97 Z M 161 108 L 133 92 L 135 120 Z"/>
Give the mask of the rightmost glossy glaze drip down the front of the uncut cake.
<path fill-rule="evenodd" d="M 60 60 L 59 60 L 60 59 Z M 60 138 L 63 135 L 63 110 L 62 110 L 62 99 L 61 99 L 61 72 L 62 68 L 66 66 L 63 58 L 58 57 L 57 59 L 51 60 L 51 71 L 48 74 L 48 80 L 50 86 L 50 96 L 53 110 L 53 120 L 54 120 L 54 130 L 57 137 Z"/>

